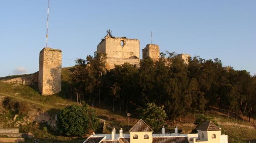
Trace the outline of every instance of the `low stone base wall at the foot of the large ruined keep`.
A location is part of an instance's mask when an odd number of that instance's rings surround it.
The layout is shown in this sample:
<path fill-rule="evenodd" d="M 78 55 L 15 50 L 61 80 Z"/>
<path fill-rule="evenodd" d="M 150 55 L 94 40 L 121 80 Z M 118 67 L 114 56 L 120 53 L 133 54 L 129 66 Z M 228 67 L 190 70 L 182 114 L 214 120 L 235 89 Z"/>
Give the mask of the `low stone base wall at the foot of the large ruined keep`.
<path fill-rule="evenodd" d="M 140 66 L 140 59 L 131 59 L 131 58 L 113 58 L 113 57 L 108 57 L 106 59 L 106 67 L 108 69 L 113 69 L 116 65 L 122 65 L 125 62 L 129 63 L 129 64 L 134 64 L 137 66 Z"/>

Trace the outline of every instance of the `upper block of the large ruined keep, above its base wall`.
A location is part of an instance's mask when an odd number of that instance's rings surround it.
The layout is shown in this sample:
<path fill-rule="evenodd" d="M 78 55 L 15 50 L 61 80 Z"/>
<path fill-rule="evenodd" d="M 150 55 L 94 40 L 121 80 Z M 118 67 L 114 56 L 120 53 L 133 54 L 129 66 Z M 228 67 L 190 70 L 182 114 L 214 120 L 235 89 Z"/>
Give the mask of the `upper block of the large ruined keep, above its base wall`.
<path fill-rule="evenodd" d="M 105 36 L 97 46 L 98 53 L 105 53 L 107 57 L 140 59 L 140 41 L 124 37 Z"/>

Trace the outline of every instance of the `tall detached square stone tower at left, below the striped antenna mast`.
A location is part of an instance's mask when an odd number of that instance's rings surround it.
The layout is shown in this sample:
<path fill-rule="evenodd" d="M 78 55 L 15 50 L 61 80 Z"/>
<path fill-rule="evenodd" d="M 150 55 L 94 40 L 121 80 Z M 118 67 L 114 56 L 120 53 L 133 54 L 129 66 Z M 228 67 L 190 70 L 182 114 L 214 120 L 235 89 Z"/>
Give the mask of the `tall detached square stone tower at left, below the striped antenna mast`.
<path fill-rule="evenodd" d="M 39 54 L 38 88 L 42 95 L 61 91 L 61 50 L 43 48 Z"/>

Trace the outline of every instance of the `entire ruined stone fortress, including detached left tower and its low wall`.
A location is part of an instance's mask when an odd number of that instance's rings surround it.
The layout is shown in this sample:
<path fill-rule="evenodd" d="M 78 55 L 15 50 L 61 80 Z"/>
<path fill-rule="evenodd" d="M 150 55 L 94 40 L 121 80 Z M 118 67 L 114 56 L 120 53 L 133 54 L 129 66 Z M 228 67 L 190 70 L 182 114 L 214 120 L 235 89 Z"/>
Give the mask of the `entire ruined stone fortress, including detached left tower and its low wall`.
<path fill-rule="evenodd" d="M 160 48 L 155 44 L 146 45 L 142 49 L 142 59 L 140 59 L 140 41 L 138 39 L 107 35 L 99 42 L 97 53 L 106 54 L 107 69 L 113 69 L 115 65 L 122 65 L 125 62 L 139 67 L 140 61 L 146 57 L 150 57 L 153 61 L 159 60 Z M 188 64 L 190 55 L 182 53 L 177 57 Z M 39 53 L 38 72 L 1 81 L 24 85 L 37 84 L 42 95 L 53 95 L 61 92 L 61 64 L 61 50 L 43 48 Z"/>

